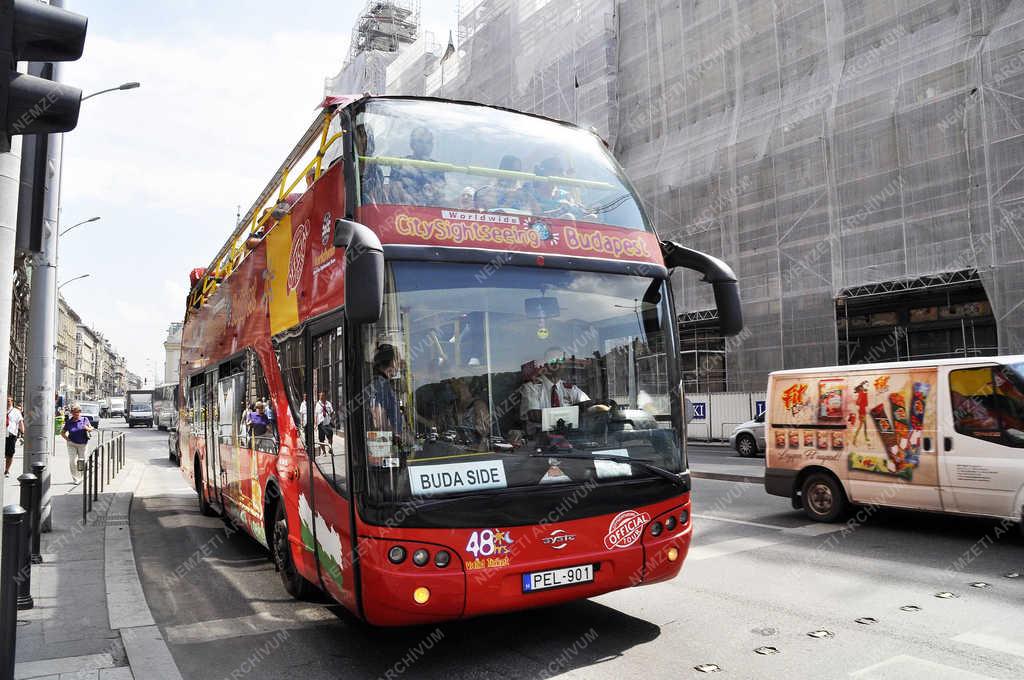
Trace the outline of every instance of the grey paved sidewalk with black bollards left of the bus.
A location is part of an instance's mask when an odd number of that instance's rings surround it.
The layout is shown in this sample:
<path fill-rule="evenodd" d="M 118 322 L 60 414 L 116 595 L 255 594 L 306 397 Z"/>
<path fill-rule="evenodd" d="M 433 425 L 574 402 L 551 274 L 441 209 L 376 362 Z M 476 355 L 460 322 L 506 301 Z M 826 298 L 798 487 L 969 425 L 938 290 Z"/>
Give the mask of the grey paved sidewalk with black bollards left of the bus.
<path fill-rule="evenodd" d="M 5 479 L 8 504 L 17 502 L 22 454 L 19 447 Z M 180 679 L 150 614 L 131 549 L 128 516 L 144 465 L 129 458 L 84 523 L 82 484 L 72 482 L 59 437 L 48 467 L 52 530 L 41 538 L 43 563 L 32 568 L 35 606 L 17 612 L 14 678 Z"/>

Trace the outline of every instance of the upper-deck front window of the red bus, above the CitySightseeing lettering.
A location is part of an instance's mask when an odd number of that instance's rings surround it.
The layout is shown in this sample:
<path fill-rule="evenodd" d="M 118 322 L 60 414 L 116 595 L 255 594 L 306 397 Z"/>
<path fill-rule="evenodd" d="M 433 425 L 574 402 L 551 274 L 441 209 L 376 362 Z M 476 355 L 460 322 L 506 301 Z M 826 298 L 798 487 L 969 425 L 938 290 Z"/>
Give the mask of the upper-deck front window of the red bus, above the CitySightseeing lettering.
<path fill-rule="evenodd" d="M 644 228 L 589 132 L 451 102 L 373 99 L 356 115 L 360 205 L 506 212 Z"/>

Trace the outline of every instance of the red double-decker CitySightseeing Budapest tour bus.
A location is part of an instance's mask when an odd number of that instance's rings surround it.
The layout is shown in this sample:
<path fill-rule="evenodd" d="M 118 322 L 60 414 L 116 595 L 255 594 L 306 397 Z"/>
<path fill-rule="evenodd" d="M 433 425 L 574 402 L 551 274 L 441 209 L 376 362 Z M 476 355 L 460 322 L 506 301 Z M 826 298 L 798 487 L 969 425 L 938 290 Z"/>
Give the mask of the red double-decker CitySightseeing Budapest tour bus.
<path fill-rule="evenodd" d="M 494 107 L 333 97 L 205 269 L 177 445 L 286 589 L 375 625 L 675 577 L 690 477 L 670 272 L 596 135 Z"/>

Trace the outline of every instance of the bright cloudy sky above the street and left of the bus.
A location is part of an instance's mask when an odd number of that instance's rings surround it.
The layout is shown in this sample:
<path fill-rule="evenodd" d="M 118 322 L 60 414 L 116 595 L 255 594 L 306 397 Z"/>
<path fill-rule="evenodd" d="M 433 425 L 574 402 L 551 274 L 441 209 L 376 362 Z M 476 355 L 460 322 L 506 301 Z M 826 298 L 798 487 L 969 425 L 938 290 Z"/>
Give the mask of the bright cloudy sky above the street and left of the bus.
<path fill-rule="evenodd" d="M 465 2 L 465 0 L 464 0 Z M 84 94 L 63 138 L 60 283 L 83 323 L 128 369 L 163 382 L 167 327 L 188 272 L 206 266 L 315 115 L 362 0 L 68 0 L 89 17 L 85 53 L 62 80 Z M 447 35 L 456 0 L 425 0 Z M 439 40 L 440 38 L 438 38 Z"/>

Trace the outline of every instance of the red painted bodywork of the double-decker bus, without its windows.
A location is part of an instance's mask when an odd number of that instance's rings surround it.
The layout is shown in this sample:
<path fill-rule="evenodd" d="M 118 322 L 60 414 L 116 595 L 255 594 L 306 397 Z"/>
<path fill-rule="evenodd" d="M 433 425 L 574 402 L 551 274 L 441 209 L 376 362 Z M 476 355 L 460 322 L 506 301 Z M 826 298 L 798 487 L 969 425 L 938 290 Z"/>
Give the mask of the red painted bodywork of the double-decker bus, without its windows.
<path fill-rule="evenodd" d="M 346 212 L 344 167 L 338 163 L 327 169 L 215 292 L 186 314 L 180 384 L 188 406 L 180 414 L 178 445 L 182 473 L 193 487 L 264 545 L 270 543 L 273 504 L 283 503 L 298 572 L 374 625 L 404 626 L 545 606 L 674 578 L 691 538 L 688 491 L 657 503 L 571 521 L 553 516 L 551 521 L 529 525 L 389 527 L 365 521 L 351 497 L 335 491 L 312 464 L 302 444 L 303 430 L 285 396 L 271 338 L 343 304 L 344 254 L 334 247 L 331 227 L 332 218 Z M 440 218 L 439 210 L 368 208 L 354 217 L 373 228 L 384 245 L 451 245 L 418 228 Z M 557 220 L 553 226 L 574 229 L 561 239 L 562 254 L 664 266 L 653 233 L 560 225 Z M 510 246 L 509 236 L 480 230 L 473 236 L 477 242 L 469 245 L 531 252 L 528 243 Z M 543 262 L 543 254 L 539 257 Z M 189 379 L 246 350 L 254 352 L 265 373 L 278 419 L 279 450 L 274 455 L 218 442 L 219 470 L 211 473 L 214 457 L 208 455 L 208 442 L 218 438 L 203 430 L 190 408 Z M 208 391 L 207 398 L 216 397 Z M 349 452 L 350 456 L 364 453 L 354 443 Z M 588 502 L 586 488 L 566 496 L 566 504 Z M 673 520 L 667 524 L 669 517 Z M 650 528 L 655 522 L 659 527 L 674 526 L 653 536 Z M 314 527 L 317 537 L 332 537 L 331 548 L 327 542 L 310 540 L 309 529 Z M 499 554 L 474 558 L 467 546 L 474 533 L 483 530 L 500 533 L 505 545 Z M 394 564 L 388 559 L 394 546 L 403 547 L 409 555 L 426 548 L 431 559 L 424 566 L 408 558 Z M 433 555 L 442 549 L 450 553 L 451 563 L 439 567 Z M 591 583 L 523 592 L 524 573 L 585 564 L 595 569 Z M 421 588 L 429 590 L 426 601 L 416 597 Z"/>

